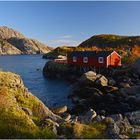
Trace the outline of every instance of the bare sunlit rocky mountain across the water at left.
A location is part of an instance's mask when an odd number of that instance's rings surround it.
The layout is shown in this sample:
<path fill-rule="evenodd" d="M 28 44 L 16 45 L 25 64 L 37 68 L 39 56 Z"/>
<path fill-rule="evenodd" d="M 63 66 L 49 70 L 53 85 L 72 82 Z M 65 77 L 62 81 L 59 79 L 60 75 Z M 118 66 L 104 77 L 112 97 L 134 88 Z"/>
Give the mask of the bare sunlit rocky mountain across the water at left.
<path fill-rule="evenodd" d="M 23 34 L 6 26 L 0 27 L 0 55 L 43 54 L 49 52 L 47 45 L 26 38 Z"/>

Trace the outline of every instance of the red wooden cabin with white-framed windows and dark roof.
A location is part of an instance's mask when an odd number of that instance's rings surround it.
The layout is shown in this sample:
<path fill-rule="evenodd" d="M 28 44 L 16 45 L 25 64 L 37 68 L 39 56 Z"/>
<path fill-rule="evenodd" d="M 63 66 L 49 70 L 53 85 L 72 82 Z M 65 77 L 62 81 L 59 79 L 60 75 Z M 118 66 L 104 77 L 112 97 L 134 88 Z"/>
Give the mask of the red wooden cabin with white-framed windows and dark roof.
<path fill-rule="evenodd" d="M 67 56 L 67 62 L 87 67 L 118 67 L 121 66 L 121 56 L 116 51 L 73 51 Z"/>

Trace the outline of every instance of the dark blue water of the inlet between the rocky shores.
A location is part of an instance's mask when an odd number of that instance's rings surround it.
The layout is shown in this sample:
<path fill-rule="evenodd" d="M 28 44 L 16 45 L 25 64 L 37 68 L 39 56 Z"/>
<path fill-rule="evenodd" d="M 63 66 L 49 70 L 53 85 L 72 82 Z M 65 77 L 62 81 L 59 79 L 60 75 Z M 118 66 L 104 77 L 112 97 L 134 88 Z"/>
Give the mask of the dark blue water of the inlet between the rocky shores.
<path fill-rule="evenodd" d="M 69 83 L 44 78 L 42 69 L 46 62 L 41 55 L 0 56 L 0 68 L 19 74 L 29 91 L 47 106 L 70 106 L 71 102 L 67 99 L 70 93 Z"/>

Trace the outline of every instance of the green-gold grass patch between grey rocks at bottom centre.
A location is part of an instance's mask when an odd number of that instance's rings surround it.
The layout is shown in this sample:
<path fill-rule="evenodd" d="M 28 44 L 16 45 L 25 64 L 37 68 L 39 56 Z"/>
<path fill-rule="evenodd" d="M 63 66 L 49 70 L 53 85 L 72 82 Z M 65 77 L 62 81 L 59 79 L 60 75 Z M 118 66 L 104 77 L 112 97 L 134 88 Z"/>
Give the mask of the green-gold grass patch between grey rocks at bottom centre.
<path fill-rule="evenodd" d="M 65 134 L 67 138 L 80 139 L 102 139 L 105 138 L 107 125 L 103 122 L 89 125 L 75 123 L 64 123 L 60 126 L 60 134 Z"/>

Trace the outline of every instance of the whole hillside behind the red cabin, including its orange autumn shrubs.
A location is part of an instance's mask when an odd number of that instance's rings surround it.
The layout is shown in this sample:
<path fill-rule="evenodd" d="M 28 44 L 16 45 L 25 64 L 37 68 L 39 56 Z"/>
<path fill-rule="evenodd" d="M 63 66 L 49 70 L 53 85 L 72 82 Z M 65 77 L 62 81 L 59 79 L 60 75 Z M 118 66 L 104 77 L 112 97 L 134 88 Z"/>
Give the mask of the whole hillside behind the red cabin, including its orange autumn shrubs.
<path fill-rule="evenodd" d="M 114 34 L 94 35 L 78 45 L 78 48 L 117 51 L 128 62 L 140 57 L 140 36 Z"/>

